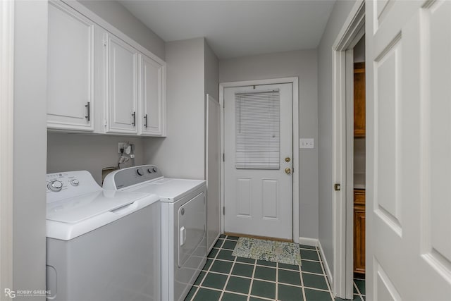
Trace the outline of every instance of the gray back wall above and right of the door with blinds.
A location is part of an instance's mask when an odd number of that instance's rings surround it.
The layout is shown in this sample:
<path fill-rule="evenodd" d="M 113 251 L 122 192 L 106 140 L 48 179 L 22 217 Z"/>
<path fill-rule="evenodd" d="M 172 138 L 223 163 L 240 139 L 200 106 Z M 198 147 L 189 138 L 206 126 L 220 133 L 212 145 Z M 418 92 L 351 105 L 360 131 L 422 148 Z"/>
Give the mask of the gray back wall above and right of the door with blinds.
<path fill-rule="evenodd" d="M 316 50 L 219 61 L 219 82 L 299 78 L 299 137 L 318 138 Z M 299 149 L 299 236 L 318 238 L 318 147 Z"/>

